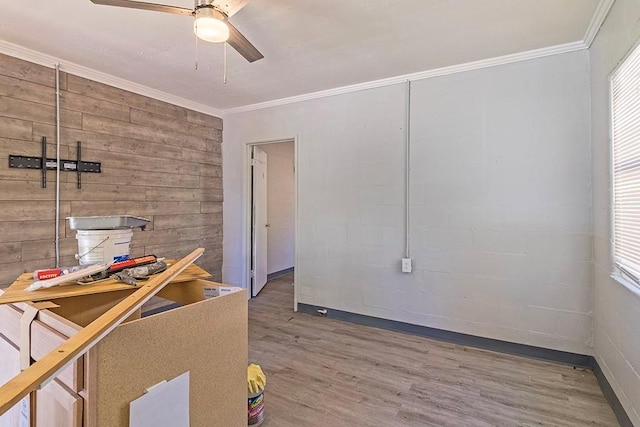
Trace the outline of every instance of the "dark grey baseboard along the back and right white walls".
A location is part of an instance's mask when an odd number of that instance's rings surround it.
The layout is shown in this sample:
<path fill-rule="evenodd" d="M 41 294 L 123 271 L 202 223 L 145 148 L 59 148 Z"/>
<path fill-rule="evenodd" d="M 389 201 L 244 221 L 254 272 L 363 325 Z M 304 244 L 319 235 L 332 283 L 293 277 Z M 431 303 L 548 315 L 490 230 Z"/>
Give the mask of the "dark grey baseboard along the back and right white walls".
<path fill-rule="evenodd" d="M 611 384 L 604 376 L 602 369 L 593 356 L 586 354 L 570 353 L 567 351 L 552 350 L 548 348 L 535 347 L 531 345 L 518 344 L 509 341 L 495 340 L 491 338 L 478 337 L 475 335 L 462 334 L 459 332 L 451 332 L 444 329 L 430 328 L 428 326 L 413 325 L 411 323 L 398 322 L 395 320 L 387 320 L 379 317 L 366 316 L 363 314 L 351 313 L 348 311 L 334 310 L 325 307 L 319 307 L 310 304 L 298 303 L 298 311 L 318 315 L 322 313 L 323 317 L 343 320 L 359 325 L 372 326 L 375 328 L 386 329 L 389 331 L 404 332 L 413 335 L 419 335 L 425 338 L 432 338 L 439 341 L 465 345 L 469 347 L 482 348 L 485 350 L 493 350 L 500 353 L 513 354 L 516 356 L 530 357 L 548 362 L 561 363 L 563 365 L 576 366 L 581 368 L 592 369 L 598 380 L 602 394 L 607 399 L 613 409 L 621 427 L 634 427 L 629 415 L 618 400 Z"/>

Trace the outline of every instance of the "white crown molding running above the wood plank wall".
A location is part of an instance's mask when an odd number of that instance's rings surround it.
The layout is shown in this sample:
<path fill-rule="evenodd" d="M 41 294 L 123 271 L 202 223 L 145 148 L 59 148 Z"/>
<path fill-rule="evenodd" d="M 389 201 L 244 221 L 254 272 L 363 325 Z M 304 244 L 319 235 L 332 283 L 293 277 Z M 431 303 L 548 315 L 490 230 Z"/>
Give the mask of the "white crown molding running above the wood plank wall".
<path fill-rule="evenodd" d="M 55 58 L 51 55 L 47 55 L 41 52 L 37 52 L 31 49 L 24 48 L 22 46 L 8 43 L 4 40 L 0 40 L 0 53 L 13 56 L 18 59 L 33 62 L 44 67 L 55 68 L 56 64 L 60 65 L 60 70 L 65 73 L 73 74 L 86 79 L 94 80 L 99 83 L 104 83 L 109 86 L 117 87 L 119 89 L 127 90 L 137 93 L 139 95 L 148 96 L 149 98 L 157 99 L 167 102 L 169 104 L 184 107 L 190 110 L 199 111 L 201 113 L 209 114 L 216 117 L 222 117 L 223 111 L 217 108 L 210 107 L 208 105 L 200 104 L 194 101 L 190 101 L 179 96 L 171 95 L 166 92 L 162 92 L 157 89 L 143 86 L 138 83 L 134 83 L 129 80 L 121 79 L 100 71 L 93 70 L 91 68 L 83 67 L 82 65 L 74 64 L 72 62 L 63 61 L 59 58 Z"/>

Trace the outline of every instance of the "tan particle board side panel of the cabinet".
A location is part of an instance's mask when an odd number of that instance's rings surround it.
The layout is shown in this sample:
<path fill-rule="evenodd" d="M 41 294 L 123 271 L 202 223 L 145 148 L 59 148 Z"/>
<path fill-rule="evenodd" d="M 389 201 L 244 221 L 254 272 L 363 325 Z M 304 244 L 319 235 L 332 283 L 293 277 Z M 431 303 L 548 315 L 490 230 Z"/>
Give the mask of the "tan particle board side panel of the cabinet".
<path fill-rule="evenodd" d="M 244 290 L 122 324 L 90 357 L 99 367 L 94 385 L 100 399 L 89 425 L 127 425 L 129 402 L 189 371 L 191 426 L 246 426 Z"/>

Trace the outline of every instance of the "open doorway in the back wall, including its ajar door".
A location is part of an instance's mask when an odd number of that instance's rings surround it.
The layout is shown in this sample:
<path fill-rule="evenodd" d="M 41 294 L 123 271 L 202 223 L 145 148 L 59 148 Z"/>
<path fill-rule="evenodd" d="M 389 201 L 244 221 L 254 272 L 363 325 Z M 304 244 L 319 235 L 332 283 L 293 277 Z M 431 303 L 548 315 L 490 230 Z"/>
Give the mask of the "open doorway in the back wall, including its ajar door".
<path fill-rule="evenodd" d="M 253 298 L 268 280 L 295 276 L 296 143 L 287 139 L 247 148 L 247 284 Z M 294 307 L 295 302 L 294 277 Z"/>

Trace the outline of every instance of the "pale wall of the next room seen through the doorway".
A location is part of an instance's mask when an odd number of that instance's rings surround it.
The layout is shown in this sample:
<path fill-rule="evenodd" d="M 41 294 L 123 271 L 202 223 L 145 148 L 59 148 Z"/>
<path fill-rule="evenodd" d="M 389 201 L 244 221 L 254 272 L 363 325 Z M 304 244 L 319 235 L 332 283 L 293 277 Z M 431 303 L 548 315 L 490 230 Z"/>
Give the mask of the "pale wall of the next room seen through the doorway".
<path fill-rule="evenodd" d="M 263 144 L 267 153 L 267 273 L 295 265 L 295 174 L 293 141 Z"/>

